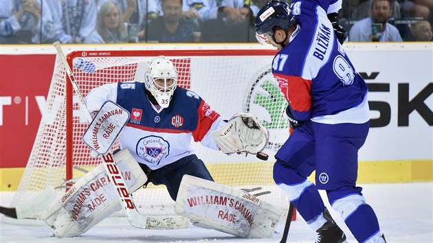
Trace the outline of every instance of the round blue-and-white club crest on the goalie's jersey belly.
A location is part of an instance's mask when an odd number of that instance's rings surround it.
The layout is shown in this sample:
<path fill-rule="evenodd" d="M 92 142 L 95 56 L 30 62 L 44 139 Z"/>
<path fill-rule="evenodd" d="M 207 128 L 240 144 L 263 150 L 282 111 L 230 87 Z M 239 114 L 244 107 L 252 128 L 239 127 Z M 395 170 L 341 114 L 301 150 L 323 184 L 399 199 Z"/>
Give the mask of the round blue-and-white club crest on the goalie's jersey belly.
<path fill-rule="evenodd" d="M 170 153 L 170 143 L 162 137 L 143 137 L 138 141 L 135 152 L 146 162 L 158 165 Z"/>

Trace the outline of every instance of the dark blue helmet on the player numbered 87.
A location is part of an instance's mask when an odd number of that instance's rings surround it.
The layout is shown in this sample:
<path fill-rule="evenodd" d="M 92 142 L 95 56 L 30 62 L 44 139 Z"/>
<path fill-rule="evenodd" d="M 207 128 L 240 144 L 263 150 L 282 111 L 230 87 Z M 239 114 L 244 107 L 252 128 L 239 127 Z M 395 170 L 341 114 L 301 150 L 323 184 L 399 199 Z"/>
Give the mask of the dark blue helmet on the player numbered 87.
<path fill-rule="evenodd" d="M 295 23 L 295 17 L 291 13 L 289 4 L 283 1 L 271 0 L 263 6 L 256 16 L 256 34 L 261 38 L 265 33 L 274 36 L 273 29 L 275 26 L 281 27 L 282 30 L 289 30 L 293 23 Z"/>

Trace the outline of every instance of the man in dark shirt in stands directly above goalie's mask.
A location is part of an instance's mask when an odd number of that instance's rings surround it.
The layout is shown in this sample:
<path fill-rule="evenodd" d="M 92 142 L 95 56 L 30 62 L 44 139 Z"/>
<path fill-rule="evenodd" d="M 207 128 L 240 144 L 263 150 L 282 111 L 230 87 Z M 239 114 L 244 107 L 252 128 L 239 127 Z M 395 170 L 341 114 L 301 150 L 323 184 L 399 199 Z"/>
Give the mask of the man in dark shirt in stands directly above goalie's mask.
<path fill-rule="evenodd" d="M 200 27 L 195 19 L 182 16 L 182 0 L 162 0 L 163 16 L 148 23 L 146 40 L 159 43 L 200 41 Z"/>

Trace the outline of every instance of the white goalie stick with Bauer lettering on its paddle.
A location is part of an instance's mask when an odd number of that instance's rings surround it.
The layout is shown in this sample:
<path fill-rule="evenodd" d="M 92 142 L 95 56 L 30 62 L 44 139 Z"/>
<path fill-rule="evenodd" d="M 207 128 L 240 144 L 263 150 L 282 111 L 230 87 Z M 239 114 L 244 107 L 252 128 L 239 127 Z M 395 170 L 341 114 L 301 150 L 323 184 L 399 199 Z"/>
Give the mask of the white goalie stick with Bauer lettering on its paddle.
<path fill-rule="evenodd" d="M 93 119 L 90 113 L 88 112 L 84 97 L 82 96 L 78 84 L 76 83 L 74 74 L 72 73 L 71 68 L 67 63 L 65 54 L 63 54 L 63 51 L 60 47 L 60 42 L 56 41 L 55 43 L 53 43 L 53 45 L 54 47 L 56 47 L 58 56 L 60 57 L 60 60 L 62 60 L 63 62 L 63 66 L 65 66 L 65 71 L 67 73 L 69 81 L 71 82 L 72 87 L 76 95 L 78 96 L 80 106 L 85 113 L 87 122 L 89 122 L 90 124 Z M 123 175 L 120 172 L 118 165 L 116 165 L 114 161 L 113 154 L 111 154 L 111 152 L 107 152 L 107 154 L 104 155 L 100 154 L 99 157 L 102 163 L 104 164 L 104 168 L 107 171 L 107 174 L 111 178 L 110 180 L 111 184 L 113 184 L 116 191 L 118 192 L 118 200 L 120 201 L 120 205 L 122 205 L 123 208 L 125 209 L 126 218 L 128 218 L 129 223 L 133 227 L 146 229 L 146 222 L 148 218 L 137 211 L 132 196 L 129 194 L 128 188 L 126 187 L 125 179 L 123 178 Z"/>

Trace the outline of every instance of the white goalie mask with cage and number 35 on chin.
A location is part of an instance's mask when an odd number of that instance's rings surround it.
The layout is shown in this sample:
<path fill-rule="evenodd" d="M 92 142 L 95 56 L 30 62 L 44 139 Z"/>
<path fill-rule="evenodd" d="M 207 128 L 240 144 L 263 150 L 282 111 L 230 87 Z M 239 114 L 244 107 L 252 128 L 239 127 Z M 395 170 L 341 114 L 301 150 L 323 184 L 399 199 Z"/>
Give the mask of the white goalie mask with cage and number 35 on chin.
<path fill-rule="evenodd" d="M 167 108 L 177 86 L 177 71 L 173 62 L 164 56 L 153 58 L 144 73 L 144 84 L 159 106 Z"/>

